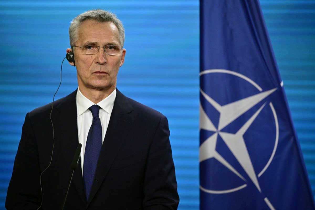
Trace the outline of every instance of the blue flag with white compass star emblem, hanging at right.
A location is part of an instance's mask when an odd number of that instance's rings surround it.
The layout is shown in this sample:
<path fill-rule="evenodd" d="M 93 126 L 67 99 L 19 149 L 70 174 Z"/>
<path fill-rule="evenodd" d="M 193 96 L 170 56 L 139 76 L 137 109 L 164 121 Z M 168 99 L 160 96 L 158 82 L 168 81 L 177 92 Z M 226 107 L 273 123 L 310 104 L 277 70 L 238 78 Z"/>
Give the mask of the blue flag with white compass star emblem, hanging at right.
<path fill-rule="evenodd" d="M 314 209 L 258 0 L 201 0 L 200 28 L 200 209 Z"/>

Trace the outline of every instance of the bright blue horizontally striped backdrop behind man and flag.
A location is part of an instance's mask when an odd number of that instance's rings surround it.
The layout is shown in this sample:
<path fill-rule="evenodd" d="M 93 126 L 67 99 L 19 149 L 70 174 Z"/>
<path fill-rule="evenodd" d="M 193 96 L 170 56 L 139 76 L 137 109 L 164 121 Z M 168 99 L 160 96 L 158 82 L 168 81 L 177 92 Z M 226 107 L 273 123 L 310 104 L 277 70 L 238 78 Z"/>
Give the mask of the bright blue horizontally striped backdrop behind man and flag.
<path fill-rule="evenodd" d="M 315 190 L 315 1 L 261 1 L 295 128 Z M 73 17 L 89 9 L 116 13 L 127 54 L 117 87 L 166 115 L 179 209 L 199 207 L 199 2 L 0 2 L 0 209 L 27 112 L 52 101 L 69 47 Z M 138 46 L 144 46 L 138 52 Z M 57 99 L 77 88 L 64 64 Z"/>

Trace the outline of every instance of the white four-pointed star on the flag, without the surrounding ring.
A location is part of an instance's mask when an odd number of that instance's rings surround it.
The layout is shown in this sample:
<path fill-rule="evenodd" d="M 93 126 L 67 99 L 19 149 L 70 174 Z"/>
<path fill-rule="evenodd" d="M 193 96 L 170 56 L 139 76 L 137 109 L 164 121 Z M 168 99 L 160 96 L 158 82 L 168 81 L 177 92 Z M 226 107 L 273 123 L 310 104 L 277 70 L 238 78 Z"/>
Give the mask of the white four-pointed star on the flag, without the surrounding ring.
<path fill-rule="evenodd" d="M 217 135 L 219 134 L 228 146 L 228 148 L 231 150 L 235 158 L 241 164 L 245 172 L 248 174 L 249 178 L 253 181 L 257 189 L 261 191 L 256 173 L 254 171 L 254 167 L 252 165 L 246 145 L 244 143 L 243 134 L 247 131 L 247 129 L 258 116 L 265 104 L 263 104 L 235 134 L 221 132 L 221 129 L 225 128 L 228 124 L 233 122 L 244 112 L 248 111 L 250 108 L 266 98 L 268 95 L 272 94 L 276 89 L 277 88 L 267 90 L 265 92 L 249 96 L 245 99 L 241 99 L 224 106 L 219 105 L 217 102 L 215 102 L 215 100 L 210 98 L 200 89 L 200 93 L 203 95 L 203 97 L 207 99 L 207 101 L 212 106 L 214 106 L 217 111 L 220 112 L 220 119 L 218 129 L 216 129 L 209 117 L 204 112 L 202 106 L 200 105 L 200 128 L 208 131 L 214 131 L 216 133 L 214 133 L 207 140 L 205 140 L 202 145 L 200 145 L 199 162 L 214 157 L 216 160 L 218 160 L 224 166 L 230 169 L 233 173 L 238 175 L 238 177 L 246 181 L 241 174 L 239 174 L 217 151 L 215 151 Z"/>

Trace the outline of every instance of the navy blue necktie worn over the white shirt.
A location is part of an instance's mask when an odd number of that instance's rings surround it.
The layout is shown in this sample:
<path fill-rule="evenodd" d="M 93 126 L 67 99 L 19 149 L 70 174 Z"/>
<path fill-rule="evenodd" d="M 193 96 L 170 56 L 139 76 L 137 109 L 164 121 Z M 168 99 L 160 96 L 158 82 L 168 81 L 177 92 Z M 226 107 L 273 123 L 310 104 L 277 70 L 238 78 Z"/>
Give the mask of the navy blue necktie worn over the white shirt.
<path fill-rule="evenodd" d="M 83 164 L 83 181 L 86 200 L 89 200 L 91 188 L 94 182 L 97 161 L 102 147 L 102 125 L 100 124 L 98 105 L 89 108 L 93 115 L 93 121 L 86 140 Z"/>

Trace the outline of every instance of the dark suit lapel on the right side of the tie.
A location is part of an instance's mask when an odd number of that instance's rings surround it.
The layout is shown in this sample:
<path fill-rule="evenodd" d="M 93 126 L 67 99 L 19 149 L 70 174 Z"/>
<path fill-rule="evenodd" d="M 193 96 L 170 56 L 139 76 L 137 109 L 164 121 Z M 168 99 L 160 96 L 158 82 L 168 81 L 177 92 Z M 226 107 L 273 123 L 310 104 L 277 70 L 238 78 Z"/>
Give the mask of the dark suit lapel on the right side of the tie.
<path fill-rule="evenodd" d="M 100 185 L 105 179 L 120 146 L 123 144 L 125 137 L 129 132 L 132 122 L 135 120 L 134 116 L 131 115 L 132 110 L 133 108 L 127 98 L 117 90 L 114 107 L 100 151 L 95 172 L 95 181 L 90 192 L 88 204 L 100 188 Z"/>

